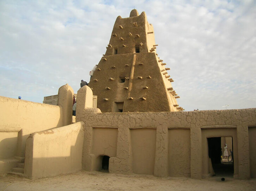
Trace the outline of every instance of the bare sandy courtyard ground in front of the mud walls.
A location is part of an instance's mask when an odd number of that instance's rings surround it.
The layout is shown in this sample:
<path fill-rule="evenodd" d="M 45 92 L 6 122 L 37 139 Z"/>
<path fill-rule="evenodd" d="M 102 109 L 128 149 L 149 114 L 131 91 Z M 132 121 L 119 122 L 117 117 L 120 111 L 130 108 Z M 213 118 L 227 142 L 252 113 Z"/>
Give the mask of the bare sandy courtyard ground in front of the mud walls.
<path fill-rule="evenodd" d="M 255 191 L 256 179 L 237 180 L 226 177 L 221 181 L 221 177 L 212 177 L 209 180 L 195 180 L 191 178 L 159 178 L 152 175 L 140 174 L 111 174 L 106 172 L 87 172 L 80 171 L 77 173 L 61 175 L 52 178 L 34 179 L 6 175 L 0 177 L 0 181 L 9 180 L 12 182 L 5 191 Z M 9 184 L 0 182 L 0 191 Z"/>

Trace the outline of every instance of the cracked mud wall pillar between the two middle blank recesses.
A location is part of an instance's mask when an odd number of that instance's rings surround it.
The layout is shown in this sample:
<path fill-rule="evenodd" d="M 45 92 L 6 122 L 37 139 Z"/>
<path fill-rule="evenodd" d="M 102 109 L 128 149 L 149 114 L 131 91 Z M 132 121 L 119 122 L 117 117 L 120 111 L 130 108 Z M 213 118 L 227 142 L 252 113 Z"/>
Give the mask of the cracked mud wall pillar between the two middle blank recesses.
<path fill-rule="evenodd" d="M 156 156 L 154 176 L 167 177 L 169 175 L 168 165 L 168 127 L 161 125 L 157 127 Z"/>

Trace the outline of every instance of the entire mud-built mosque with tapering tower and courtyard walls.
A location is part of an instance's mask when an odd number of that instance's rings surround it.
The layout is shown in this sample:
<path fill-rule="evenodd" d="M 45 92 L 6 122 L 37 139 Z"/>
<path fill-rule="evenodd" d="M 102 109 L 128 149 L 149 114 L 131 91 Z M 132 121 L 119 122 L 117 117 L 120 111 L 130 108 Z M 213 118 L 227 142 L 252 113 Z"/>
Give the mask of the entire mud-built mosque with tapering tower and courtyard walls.
<path fill-rule="evenodd" d="M 118 16 L 89 85 L 78 90 L 76 123 L 68 84 L 57 105 L 0 97 L 0 173 L 202 179 L 217 173 L 227 143 L 233 177 L 256 178 L 256 108 L 183 111 L 157 46 L 145 12 Z"/>

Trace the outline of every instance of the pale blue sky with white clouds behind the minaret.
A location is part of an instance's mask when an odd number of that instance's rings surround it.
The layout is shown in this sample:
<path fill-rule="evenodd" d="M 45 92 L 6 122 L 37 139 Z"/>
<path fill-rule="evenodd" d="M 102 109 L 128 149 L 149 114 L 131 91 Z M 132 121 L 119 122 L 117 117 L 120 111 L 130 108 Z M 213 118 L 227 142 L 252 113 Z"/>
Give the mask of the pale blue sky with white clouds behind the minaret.
<path fill-rule="evenodd" d="M 134 7 L 186 111 L 256 107 L 255 0 L 0 0 L 0 95 L 42 103 L 66 83 L 76 93 Z"/>

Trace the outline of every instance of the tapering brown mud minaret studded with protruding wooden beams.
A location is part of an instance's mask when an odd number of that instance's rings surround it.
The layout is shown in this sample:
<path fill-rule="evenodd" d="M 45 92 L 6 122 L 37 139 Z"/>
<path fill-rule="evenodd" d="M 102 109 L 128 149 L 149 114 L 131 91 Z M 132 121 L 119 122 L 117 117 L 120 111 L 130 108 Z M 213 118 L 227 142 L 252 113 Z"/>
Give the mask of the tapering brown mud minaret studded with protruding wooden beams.
<path fill-rule="evenodd" d="M 158 57 L 152 24 L 136 9 L 117 17 L 106 53 L 89 87 L 102 112 L 180 111 L 170 68 Z"/>

